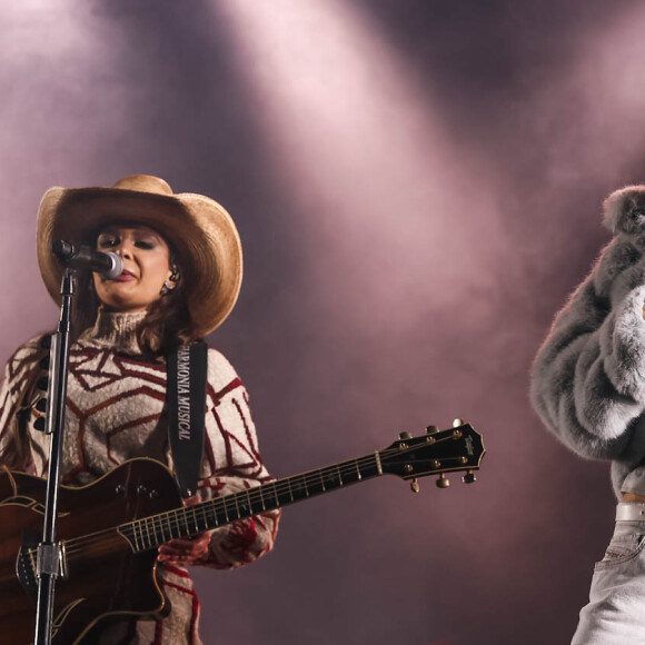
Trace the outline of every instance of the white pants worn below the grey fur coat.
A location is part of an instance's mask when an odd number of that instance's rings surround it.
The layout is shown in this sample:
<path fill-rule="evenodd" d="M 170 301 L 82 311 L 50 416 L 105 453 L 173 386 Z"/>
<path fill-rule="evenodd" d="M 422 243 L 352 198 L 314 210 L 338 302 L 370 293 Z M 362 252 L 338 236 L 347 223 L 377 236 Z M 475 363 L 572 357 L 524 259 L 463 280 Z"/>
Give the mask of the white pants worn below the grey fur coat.
<path fill-rule="evenodd" d="M 572 645 L 645 645 L 645 522 L 616 522 Z"/>

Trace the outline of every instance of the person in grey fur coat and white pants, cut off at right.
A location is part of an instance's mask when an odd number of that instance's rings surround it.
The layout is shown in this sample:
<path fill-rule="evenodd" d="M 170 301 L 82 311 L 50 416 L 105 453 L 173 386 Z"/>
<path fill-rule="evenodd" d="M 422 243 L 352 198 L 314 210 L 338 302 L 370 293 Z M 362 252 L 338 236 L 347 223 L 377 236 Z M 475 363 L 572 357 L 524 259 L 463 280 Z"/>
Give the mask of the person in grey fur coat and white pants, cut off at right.
<path fill-rule="evenodd" d="M 557 314 L 530 385 L 549 430 L 612 462 L 618 499 L 575 645 L 645 643 L 645 186 L 613 192 L 603 224 L 613 239 Z"/>

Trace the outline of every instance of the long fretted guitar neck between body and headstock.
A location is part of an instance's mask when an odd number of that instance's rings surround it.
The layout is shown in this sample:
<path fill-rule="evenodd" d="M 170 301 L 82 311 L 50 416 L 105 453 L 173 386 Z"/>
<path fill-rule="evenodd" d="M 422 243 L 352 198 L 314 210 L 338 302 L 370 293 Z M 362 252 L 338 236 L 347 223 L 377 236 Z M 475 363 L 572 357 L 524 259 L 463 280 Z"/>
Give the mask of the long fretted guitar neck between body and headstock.
<path fill-rule="evenodd" d="M 380 454 L 373 453 L 358 459 L 284 477 L 195 506 L 135 519 L 122 524 L 118 530 L 130 542 L 135 550 L 148 550 L 173 538 L 197 535 L 380 475 L 383 475 Z"/>

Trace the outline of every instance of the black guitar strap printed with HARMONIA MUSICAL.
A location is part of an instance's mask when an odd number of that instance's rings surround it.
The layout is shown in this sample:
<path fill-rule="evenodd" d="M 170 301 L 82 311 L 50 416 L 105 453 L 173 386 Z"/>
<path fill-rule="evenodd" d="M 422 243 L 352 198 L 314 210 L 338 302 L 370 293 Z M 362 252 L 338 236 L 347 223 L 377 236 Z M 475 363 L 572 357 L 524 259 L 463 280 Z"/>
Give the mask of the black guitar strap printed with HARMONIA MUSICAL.
<path fill-rule="evenodd" d="M 204 452 L 207 367 L 208 346 L 204 340 L 181 345 L 167 357 L 168 439 L 175 477 L 183 497 L 197 494 Z"/>

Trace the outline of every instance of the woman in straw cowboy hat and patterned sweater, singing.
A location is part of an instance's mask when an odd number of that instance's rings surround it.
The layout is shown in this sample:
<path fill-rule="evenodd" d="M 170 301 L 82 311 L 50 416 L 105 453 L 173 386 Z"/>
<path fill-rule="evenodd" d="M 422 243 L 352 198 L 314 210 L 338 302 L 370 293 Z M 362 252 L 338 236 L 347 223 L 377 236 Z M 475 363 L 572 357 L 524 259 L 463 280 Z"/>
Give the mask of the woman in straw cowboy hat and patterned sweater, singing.
<path fill-rule="evenodd" d="M 86 486 L 135 457 L 172 470 L 166 356 L 207 336 L 237 300 L 242 257 L 232 219 L 215 200 L 173 194 L 166 181 L 148 175 L 125 177 L 112 187 L 51 188 L 40 205 L 37 245 L 42 279 L 60 305 L 62 268 L 51 252 L 56 240 L 92 245 L 122 260 L 116 277 L 78 271 L 62 484 Z M 40 334 L 21 345 L 0 388 L 0 465 L 38 477 L 48 470 L 49 437 L 42 429 L 50 338 Z M 209 348 L 207 355 L 204 456 L 189 505 L 270 479 L 242 381 L 219 351 Z M 96 624 L 83 622 L 86 631 L 69 645 L 81 639 L 86 645 L 200 645 L 200 603 L 187 566 L 230 569 L 256 560 L 271 549 L 278 517 L 278 510 L 265 510 L 161 545 L 156 580 L 168 602 L 159 614 L 169 614 L 112 622 L 106 612 Z M 145 546 L 150 535 L 141 529 L 140 538 Z M 69 613 L 82 613 L 82 601 Z M 69 619 L 69 613 L 61 612 L 60 619 Z"/>

